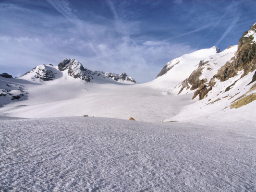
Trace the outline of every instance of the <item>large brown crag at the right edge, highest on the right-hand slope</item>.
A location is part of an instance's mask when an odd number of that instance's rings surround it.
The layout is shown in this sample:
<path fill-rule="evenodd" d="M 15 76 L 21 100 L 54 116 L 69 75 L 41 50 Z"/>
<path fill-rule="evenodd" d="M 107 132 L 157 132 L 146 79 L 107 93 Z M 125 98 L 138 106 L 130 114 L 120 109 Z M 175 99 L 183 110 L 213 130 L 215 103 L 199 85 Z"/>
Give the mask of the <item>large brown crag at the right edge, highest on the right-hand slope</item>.
<path fill-rule="evenodd" d="M 234 77 L 238 71 L 244 70 L 242 77 L 256 70 L 256 23 L 245 31 L 239 39 L 236 57 L 233 62 L 227 62 L 214 76 L 220 81 Z"/>

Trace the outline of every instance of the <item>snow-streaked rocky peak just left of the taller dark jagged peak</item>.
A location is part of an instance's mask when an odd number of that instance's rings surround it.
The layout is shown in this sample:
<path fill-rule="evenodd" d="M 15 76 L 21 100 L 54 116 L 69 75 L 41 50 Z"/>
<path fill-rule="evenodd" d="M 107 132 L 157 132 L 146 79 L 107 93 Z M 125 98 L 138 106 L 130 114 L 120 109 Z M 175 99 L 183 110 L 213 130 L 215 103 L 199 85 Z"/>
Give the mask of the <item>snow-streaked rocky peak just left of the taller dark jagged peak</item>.
<path fill-rule="evenodd" d="M 52 66 L 51 64 L 48 65 L 38 65 L 37 67 L 33 68 L 31 71 L 26 72 L 24 75 L 22 75 L 21 77 L 24 76 L 28 76 L 31 75 L 31 79 L 35 80 L 35 79 L 41 79 L 43 81 L 50 81 L 55 79 L 55 75 L 57 73 L 53 72 L 48 66 Z"/>

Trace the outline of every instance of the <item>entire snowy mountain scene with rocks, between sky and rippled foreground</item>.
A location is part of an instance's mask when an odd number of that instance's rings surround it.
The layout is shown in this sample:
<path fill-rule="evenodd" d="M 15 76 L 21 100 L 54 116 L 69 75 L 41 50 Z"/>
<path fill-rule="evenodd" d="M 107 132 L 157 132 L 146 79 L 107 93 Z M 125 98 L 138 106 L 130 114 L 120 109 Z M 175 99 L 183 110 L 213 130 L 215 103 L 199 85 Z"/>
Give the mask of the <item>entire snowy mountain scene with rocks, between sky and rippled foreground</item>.
<path fill-rule="evenodd" d="M 7 105 L 0 108 L 0 115 L 133 117 L 151 122 L 202 124 L 249 120 L 253 124 L 256 122 L 254 27 L 244 33 L 238 46 L 222 52 L 216 47 L 202 49 L 171 60 L 164 67 L 167 72 L 146 84 L 135 84 L 125 73 L 92 72 L 71 59 L 61 61 L 56 67 L 40 65 L 18 79 L 1 77 L 1 94 L 6 95 L 6 84 L 14 83 L 17 86 L 14 84 L 13 89 L 23 86 L 28 94 L 18 102 L 10 96 L 8 101 L 3 100 L 8 97 L 1 96 L 0 104 Z M 52 80 L 45 81 L 46 77 Z"/>

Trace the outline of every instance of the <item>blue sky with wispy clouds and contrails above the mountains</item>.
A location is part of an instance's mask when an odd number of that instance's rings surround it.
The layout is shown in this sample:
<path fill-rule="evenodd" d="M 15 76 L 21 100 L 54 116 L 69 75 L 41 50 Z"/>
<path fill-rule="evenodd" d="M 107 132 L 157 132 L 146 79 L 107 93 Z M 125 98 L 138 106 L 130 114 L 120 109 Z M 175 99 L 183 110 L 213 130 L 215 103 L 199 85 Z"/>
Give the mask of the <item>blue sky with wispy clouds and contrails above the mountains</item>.
<path fill-rule="evenodd" d="M 0 73 L 74 58 L 145 83 L 183 54 L 237 45 L 255 10 L 255 0 L 0 0 Z"/>

